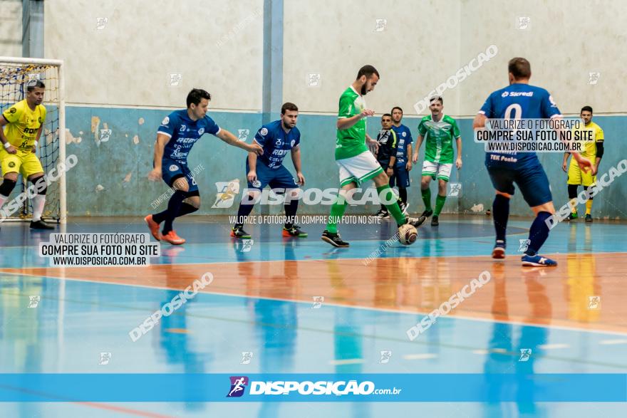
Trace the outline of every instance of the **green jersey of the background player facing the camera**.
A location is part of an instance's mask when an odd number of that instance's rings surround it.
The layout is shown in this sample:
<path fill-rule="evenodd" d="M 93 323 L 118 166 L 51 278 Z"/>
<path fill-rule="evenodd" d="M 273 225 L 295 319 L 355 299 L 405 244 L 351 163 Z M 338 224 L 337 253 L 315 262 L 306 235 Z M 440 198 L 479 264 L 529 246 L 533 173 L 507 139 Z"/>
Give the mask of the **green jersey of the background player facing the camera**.
<path fill-rule="evenodd" d="M 440 164 L 453 162 L 453 138 L 460 137 L 455 119 L 444 115 L 440 122 L 435 122 L 431 115 L 425 116 L 418 125 L 418 134 L 425 141 L 425 160 Z"/>

